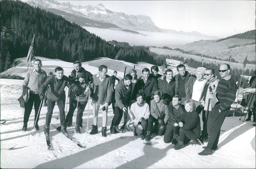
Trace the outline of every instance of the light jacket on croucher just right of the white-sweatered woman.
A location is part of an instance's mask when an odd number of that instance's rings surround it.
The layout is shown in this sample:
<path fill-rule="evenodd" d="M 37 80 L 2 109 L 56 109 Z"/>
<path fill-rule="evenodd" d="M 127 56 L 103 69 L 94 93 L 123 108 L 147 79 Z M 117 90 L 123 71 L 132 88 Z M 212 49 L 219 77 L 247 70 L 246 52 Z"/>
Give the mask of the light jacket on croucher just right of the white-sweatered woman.
<path fill-rule="evenodd" d="M 169 109 L 168 106 L 163 103 L 163 99 L 161 99 L 158 103 L 156 103 L 155 99 L 150 101 L 150 114 L 157 119 L 160 117 L 164 120 L 166 124 L 169 119 Z"/>

